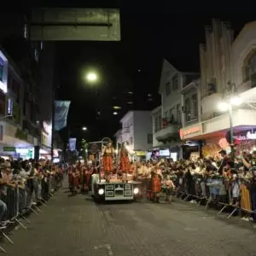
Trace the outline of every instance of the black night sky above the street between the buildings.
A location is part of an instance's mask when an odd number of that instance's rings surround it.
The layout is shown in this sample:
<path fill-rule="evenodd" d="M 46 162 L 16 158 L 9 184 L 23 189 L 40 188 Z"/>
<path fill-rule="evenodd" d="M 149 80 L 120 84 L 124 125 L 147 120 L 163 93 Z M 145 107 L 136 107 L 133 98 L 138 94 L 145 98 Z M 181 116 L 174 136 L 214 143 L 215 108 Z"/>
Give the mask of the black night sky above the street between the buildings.
<path fill-rule="evenodd" d="M 42 5 L 40 1 L 32 3 Z M 177 8 L 172 1 L 159 3 L 165 4 L 126 0 L 52 0 L 50 4 L 44 1 L 44 7 L 109 7 L 119 8 L 121 12 L 121 42 L 56 44 L 56 76 L 60 80 L 57 97 L 72 101 L 67 122 L 71 136 L 89 141 L 113 137 L 119 129 L 119 119 L 128 110 L 152 110 L 159 106 L 163 58 L 183 71 L 199 71 L 199 44 L 205 42 L 204 26 L 211 25 L 212 18 L 230 20 L 236 33 L 247 21 L 256 20 L 256 15 L 248 13 L 250 10 L 237 15 L 235 9 L 230 11 L 229 7 L 220 12 L 216 6 L 215 12 L 211 8 L 209 13 L 207 6 L 206 10 L 199 10 L 188 5 L 186 9 L 182 5 Z M 88 69 L 96 70 L 100 76 L 94 87 L 84 80 Z M 116 105 L 122 110 L 113 116 L 112 107 Z M 88 131 L 83 134 L 84 125 Z M 66 137 L 67 129 L 61 134 Z"/>

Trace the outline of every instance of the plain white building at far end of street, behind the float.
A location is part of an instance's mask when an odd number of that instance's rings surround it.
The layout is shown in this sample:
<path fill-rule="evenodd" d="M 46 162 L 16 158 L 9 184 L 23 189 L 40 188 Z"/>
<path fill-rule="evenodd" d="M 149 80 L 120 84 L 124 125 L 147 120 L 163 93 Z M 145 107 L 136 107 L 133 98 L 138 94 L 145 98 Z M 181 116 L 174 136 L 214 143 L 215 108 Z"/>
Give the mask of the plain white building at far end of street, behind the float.
<path fill-rule="evenodd" d="M 117 142 L 127 142 L 133 150 L 146 155 L 153 145 L 150 111 L 129 111 L 120 123 L 122 128 L 115 134 Z"/>

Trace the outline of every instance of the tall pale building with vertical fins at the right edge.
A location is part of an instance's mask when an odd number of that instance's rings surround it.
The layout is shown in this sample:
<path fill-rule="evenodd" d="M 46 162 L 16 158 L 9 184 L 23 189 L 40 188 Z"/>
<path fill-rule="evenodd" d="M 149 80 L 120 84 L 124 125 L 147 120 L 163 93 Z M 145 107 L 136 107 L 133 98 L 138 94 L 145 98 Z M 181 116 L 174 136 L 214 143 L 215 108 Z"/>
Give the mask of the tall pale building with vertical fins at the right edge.
<path fill-rule="evenodd" d="M 229 86 L 243 100 L 232 113 L 237 149 L 256 146 L 256 21 L 246 24 L 236 39 L 233 35 L 230 25 L 219 20 L 206 28 L 206 44 L 200 46 L 201 121 L 180 131 L 183 140 L 204 140 L 205 156 L 229 148 L 229 113 L 219 109 L 219 102 L 228 102 L 224 90 Z"/>

